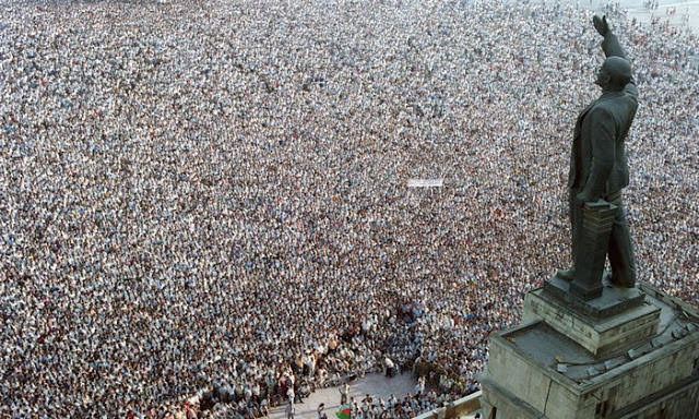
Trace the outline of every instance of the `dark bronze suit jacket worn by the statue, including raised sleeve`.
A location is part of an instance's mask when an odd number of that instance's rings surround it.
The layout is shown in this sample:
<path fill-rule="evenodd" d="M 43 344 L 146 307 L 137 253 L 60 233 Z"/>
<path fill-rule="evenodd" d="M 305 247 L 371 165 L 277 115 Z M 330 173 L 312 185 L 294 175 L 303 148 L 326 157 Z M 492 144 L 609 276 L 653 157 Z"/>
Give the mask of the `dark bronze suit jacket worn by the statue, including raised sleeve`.
<path fill-rule="evenodd" d="M 602 43 L 607 57 L 625 58 L 616 36 Z M 624 141 L 638 108 L 638 89 L 631 79 L 623 91 L 605 92 L 580 112 L 570 155 L 568 188 L 583 191 L 592 201 L 629 184 Z"/>

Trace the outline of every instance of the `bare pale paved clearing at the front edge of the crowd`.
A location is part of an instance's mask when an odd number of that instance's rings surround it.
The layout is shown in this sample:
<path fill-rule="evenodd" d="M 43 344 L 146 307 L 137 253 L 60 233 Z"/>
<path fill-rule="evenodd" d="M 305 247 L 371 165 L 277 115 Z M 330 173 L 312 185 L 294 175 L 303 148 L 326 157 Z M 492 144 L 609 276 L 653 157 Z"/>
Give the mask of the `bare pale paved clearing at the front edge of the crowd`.
<path fill-rule="evenodd" d="M 382 374 L 369 374 L 350 383 L 350 396 L 362 399 L 368 393 L 372 396 L 383 397 L 383 399 L 390 397 L 391 394 L 401 397 L 411 393 L 416 383 L 411 373 L 396 375 L 392 379 L 387 379 Z M 334 419 L 337 407 L 340 407 L 339 387 L 322 388 L 311 394 L 310 397 L 305 398 L 303 404 L 296 404 L 295 418 L 316 419 L 316 409 L 318 409 L 318 405 L 321 403 L 325 404 L 325 415 L 328 415 L 328 418 Z M 272 409 L 270 417 L 285 418 L 284 406 Z"/>

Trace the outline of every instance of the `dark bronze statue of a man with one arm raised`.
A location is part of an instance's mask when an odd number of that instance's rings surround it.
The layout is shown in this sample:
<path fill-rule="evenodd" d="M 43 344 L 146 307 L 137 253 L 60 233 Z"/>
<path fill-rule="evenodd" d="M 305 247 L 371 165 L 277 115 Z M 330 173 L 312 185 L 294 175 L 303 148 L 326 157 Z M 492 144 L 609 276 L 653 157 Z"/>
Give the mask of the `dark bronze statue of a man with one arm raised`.
<path fill-rule="evenodd" d="M 602 87 L 602 96 L 588 105 L 576 122 L 568 178 L 573 266 L 557 274 L 570 282 L 571 294 L 584 300 L 602 294 L 607 255 L 612 266 L 609 282 L 629 288 L 636 284 L 621 190 L 629 183 L 624 143 L 638 108 L 638 91 L 631 65 L 606 16 L 594 16 L 593 24 L 604 36 L 606 60 L 595 81 Z M 604 218 L 599 215 L 600 208 L 606 211 L 607 227 L 600 227 L 604 224 L 600 222 Z"/>

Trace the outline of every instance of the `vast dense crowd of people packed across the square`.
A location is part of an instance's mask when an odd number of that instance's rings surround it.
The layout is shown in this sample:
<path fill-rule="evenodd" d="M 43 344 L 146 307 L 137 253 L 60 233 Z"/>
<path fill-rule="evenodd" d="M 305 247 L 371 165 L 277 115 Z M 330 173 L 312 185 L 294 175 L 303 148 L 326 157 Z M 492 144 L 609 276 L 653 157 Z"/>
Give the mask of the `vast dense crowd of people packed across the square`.
<path fill-rule="evenodd" d="M 475 391 L 488 334 L 570 263 L 591 17 L 0 2 L 0 416 L 251 417 L 387 362 Z M 640 91 L 639 279 L 698 304 L 697 35 L 609 20 Z"/>

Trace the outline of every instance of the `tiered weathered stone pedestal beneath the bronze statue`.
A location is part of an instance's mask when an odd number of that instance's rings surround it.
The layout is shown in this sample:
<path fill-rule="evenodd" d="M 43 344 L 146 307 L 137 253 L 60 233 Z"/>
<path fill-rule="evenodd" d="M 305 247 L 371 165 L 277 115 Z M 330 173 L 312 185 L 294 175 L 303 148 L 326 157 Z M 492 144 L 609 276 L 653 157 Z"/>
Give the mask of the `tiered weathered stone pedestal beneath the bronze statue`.
<path fill-rule="evenodd" d="M 490 335 L 484 418 L 699 418 L 698 310 L 645 285 L 600 298 L 528 294 L 522 324 Z"/>

